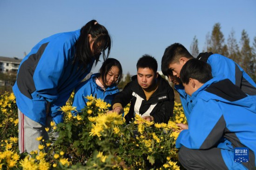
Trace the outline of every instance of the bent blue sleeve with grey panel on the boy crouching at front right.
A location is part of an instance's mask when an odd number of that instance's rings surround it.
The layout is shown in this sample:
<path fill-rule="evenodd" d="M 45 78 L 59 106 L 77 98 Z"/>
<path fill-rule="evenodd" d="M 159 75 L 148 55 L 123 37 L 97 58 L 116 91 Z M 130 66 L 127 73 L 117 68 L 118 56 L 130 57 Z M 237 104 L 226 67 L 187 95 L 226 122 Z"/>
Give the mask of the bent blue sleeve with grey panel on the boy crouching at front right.
<path fill-rule="evenodd" d="M 225 123 L 215 100 L 198 99 L 190 114 L 189 129 L 183 130 L 176 140 L 176 148 L 209 149 L 222 138 Z"/>

